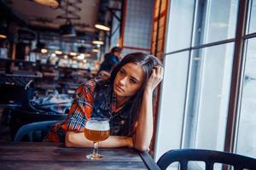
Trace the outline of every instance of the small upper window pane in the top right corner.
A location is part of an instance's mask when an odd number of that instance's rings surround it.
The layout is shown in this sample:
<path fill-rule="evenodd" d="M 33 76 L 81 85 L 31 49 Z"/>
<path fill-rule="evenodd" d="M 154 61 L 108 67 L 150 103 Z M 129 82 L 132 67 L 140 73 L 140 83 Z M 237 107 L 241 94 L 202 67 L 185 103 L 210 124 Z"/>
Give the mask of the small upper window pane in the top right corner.
<path fill-rule="evenodd" d="M 248 15 L 248 33 L 256 32 L 256 0 L 251 0 L 249 6 L 250 14 Z"/>

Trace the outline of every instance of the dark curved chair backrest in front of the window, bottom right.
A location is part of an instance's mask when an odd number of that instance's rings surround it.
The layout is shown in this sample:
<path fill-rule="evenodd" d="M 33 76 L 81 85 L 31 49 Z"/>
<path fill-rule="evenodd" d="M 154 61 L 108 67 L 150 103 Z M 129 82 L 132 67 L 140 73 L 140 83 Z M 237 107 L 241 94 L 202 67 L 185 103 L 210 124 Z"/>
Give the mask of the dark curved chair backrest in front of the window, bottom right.
<path fill-rule="evenodd" d="M 216 150 L 169 150 L 157 161 L 160 169 L 166 169 L 173 162 L 180 163 L 180 170 L 188 169 L 189 161 L 204 161 L 206 170 L 212 170 L 214 163 L 232 165 L 234 169 L 256 169 L 256 159 Z"/>

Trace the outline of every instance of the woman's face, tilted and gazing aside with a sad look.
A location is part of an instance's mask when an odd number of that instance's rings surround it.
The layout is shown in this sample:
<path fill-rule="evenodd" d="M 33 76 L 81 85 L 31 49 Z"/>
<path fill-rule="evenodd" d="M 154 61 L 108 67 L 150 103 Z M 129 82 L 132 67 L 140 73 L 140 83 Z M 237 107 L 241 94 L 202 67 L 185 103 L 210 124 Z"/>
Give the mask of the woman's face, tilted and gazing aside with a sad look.
<path fill-rule="evenodd" d="M 137 63 L 124 65 L 113 82 L 113 92 L 117 97 L 130 98 L 137 94 L 144 81 L 143 68 Z"/>

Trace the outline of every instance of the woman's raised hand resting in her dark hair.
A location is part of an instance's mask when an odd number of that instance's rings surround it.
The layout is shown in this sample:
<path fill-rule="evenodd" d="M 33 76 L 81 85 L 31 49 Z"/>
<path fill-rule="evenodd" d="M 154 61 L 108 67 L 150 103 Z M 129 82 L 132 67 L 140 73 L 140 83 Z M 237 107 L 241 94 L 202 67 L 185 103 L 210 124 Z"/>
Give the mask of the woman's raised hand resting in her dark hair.
<path fill-rule="evenodd" d="M 157 65 L 154 67 L 145 90 L 148 90 L 148 92 L 153 93 L 154 88 L 157 87 L 157 85 L 162 81 L 164 77 L 164 68 L 161 67 L 160 65 Z"/>

